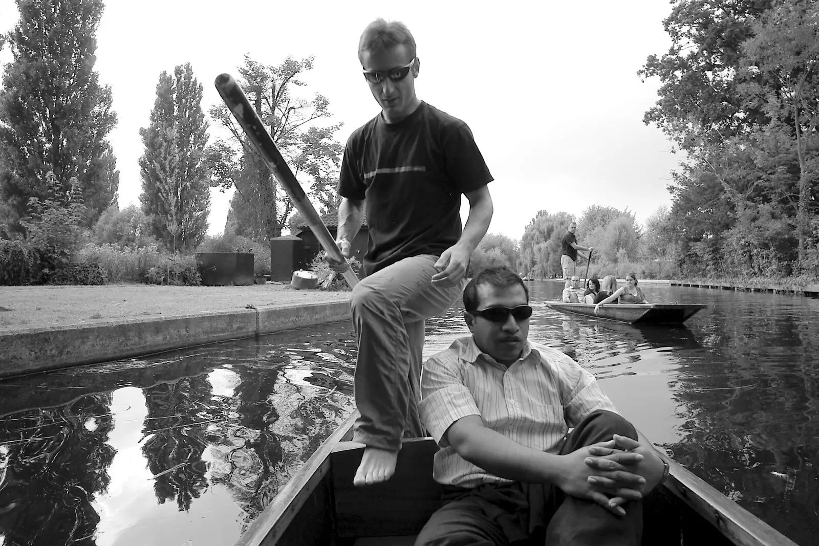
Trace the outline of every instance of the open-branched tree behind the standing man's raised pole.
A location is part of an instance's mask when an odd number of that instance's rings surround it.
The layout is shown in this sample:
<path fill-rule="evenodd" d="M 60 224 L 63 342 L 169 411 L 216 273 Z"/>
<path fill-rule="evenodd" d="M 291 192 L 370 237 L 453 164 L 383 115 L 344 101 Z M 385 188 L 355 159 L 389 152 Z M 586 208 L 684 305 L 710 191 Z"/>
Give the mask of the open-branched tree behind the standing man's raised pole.
<path fill-rule="evenodd" d="M 331 210 L 340 201 L 335 186 L 343 147 L 334 134 L 342 124 L 321 125 L 332 117 L 326 97 L 296 96 L 296 89 L 305 87 L 300 77 L 312 69 L 312 56 L 301 61 L 287 57 L 278 66 L 261 65 L 245 56 L 238 69 L 239 83 L 305 192 L 319 207 Z M 231 201 L 233 214 L 225 231 L 252 238 L 279 237 L 294 210 L 292 201 L 271 179 L 267 165 L 228 108 L 214 106 L 210 115 L 232 135 L 230 142 L 217 141 L 209 148 L 218 185 L 223 190 L 235 187 L 238 194 Z"/>

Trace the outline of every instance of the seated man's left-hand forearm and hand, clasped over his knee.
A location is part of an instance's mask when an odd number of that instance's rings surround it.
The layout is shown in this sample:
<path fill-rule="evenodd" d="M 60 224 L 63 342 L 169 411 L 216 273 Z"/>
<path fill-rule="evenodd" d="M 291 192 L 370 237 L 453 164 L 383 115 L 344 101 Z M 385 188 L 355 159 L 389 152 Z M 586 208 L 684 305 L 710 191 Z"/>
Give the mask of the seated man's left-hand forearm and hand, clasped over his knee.
<path fill-rule="evenodd" d="M 481 467 L 486 472 L 512 481 L 546 483 L 559 487 L 566 494 L 590 499 L 609 511 L 622 515 L 619 504 L 612 504 L 609 496 L 597 487 L 590 476 L 600 476 L 615 484 L 611 494 L 622 499 L 641 499 L 637 490 L 645 484 L 641 476 L 621 469 L 600 470 L 602 462 L 590 454 L 590 446 L 582 447 L 566 455 L 553 455 L 527 448 L 514 440 L 483 426 L 480 416 L 469 415 L 452 423 L 444 439 L 462 458 Z M 594 444 L 603 449 L 613 449 L 614 440 Z M 616 453 L 620 463 L 637 464 L 640 453 Z M 620 467 L 622 468 L 622 467 Z M 607 490 L 607 492 L 609 492 Z"/>

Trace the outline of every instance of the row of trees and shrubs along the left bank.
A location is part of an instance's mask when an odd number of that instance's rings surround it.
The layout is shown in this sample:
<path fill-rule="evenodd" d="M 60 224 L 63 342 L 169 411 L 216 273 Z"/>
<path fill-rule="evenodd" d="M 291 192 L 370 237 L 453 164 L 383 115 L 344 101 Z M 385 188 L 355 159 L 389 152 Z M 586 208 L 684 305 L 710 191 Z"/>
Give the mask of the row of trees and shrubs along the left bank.
<path fill-rule="evenodd" d="M 189 63 L 163 71 L 147 127 L 139 130 L 139 205 L 120 210 L 120 171 L 109 135 L 110 86 L 94 70 L 101 0 L 17 0 L 20 19 L 0 37 L 11 50 L 0 90 L 0 284 L 48 282 L 98 251 L 152 246 L 191 255 L 206 241 L 210 188 L 235 187 L 224 236 L 258 246 L 282 234 L 293 205 L 225 106 L 210 118 L 227 138 L 211 142 L 203 88 Z M 302 97 L 313 57 L 263 65 L 251 56 L 238 81 L 308 195 L 324 210 L 342 145 L 328 100 Z M 52 236 L 43 237 L 43 233 Z M 82 279 L 75 279 L 82 280 Z"/>

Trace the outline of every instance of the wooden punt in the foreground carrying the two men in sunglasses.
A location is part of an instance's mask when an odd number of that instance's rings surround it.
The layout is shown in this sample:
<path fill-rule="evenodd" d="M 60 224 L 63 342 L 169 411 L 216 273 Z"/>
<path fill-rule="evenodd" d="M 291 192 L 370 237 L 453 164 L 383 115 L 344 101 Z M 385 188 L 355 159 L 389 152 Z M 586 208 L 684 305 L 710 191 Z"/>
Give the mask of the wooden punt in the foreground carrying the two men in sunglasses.
<path fill-rule="evenodd" d="M 296 472 L 237 546 L 411 546 L 440 506 L 432 480 L 432 438 L 405 439 L 396 473 L 355 487 L 364 445 L 349 441 L 356 413 Z M 662 456 L 662 453 L 661 453 Z M 642 544 L 796 546 L 796 544 L 667 459 L 671 474 L 644 500 Z"/>

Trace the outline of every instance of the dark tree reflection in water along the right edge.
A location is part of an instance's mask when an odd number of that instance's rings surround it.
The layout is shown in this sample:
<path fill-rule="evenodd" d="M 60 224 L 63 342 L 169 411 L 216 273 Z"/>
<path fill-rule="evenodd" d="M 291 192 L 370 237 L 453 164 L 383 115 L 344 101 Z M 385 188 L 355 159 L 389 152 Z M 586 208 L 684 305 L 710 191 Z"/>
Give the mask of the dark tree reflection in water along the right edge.
<path fill-rule="evenodd" d="M 819 324 L 801 306 L 724 312 L 677 372 L 674 458 L 798 544 L 819 532 Z M 795 309 L 795 310 L 794 310 Z"/>

